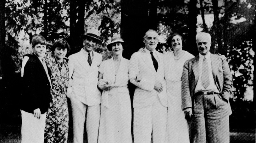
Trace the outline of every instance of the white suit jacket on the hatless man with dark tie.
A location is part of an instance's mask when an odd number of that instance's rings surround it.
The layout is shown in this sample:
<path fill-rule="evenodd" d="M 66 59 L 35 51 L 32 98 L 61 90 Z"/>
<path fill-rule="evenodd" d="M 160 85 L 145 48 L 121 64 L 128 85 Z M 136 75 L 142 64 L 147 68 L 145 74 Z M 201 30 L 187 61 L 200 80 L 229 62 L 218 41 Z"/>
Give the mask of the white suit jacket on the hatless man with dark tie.
<path fill-rule="evenodd" d="M 132 54 L 129 66 L 129 79 L 130 82 L 136 85 L 136 89 L 133 96 L 133 107 L 140 108 L 153 104 L 153 100 L 157 96 L 161 104 L 167 107 L 167 95 L 166 95 L 166 82 L 164 79 L 164 62 L 163 54 L 156 51 L 158 56 L 158 70 L 155 71 L 153 61 L 148 53 L 142 53 L 140 51 Z M 142 80 L 137 82 L 135 79 L 140 74 Z M 159 81 L 163 85 L 163 91 L 158 93 L 154 90 L 155 82 Z"/>

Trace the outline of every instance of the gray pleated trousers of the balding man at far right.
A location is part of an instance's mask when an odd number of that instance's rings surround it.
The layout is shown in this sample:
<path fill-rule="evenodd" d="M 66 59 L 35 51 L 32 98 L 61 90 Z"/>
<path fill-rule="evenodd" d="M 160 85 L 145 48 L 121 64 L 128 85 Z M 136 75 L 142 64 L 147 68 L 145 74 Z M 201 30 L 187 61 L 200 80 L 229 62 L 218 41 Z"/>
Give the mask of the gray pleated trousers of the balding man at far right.
<path fill-rule="evenodd" d="M 229 142 L 229 104 L 219 94 L 194 96 L 190 142 Z"/>

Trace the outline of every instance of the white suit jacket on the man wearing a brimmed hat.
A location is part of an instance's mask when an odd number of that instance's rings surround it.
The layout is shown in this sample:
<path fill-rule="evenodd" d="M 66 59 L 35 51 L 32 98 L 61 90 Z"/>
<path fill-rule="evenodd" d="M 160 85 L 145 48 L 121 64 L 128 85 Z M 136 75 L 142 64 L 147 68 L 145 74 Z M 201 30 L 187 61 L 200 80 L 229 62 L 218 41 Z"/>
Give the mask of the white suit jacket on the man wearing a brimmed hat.
<path fill-rule="evenodd" d="M 102 62 L 102 55 L 93 51 L 90 66 L 82 50 L 84 49 L 69 56 L 70 81 L 68 87 L 71 88 L 71 91 L 69 90 L 69 93 L 67 91 L 67 96 L 73 96 L 88 106 L 98 105 L 101 102 L 101 93 L 97 88 L 98 69 Z"/>

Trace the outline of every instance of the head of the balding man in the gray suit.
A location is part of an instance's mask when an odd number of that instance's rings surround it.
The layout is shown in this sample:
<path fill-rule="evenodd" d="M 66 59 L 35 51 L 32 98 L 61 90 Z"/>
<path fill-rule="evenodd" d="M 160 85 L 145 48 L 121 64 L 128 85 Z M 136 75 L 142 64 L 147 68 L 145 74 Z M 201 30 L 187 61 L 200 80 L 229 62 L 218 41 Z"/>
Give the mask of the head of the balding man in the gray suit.
<path fill-rule="evenodd" d="M 209 33 L 201 32 L 196 35 L 196 42 L 198 51 L 201 55 L 206 55 L 210 51 L 211 35 Z"/>

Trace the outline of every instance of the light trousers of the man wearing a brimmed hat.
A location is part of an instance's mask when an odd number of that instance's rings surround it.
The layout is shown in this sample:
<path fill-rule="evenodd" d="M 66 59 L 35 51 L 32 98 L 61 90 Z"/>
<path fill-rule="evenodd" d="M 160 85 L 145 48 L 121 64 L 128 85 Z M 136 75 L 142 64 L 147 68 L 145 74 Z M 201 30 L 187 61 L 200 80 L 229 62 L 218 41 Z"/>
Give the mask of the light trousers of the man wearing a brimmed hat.
<path fill-rule="evenodd" d="M 88 142 L 98 142 L 100 105 L 87 106 L 75 97 L 71 97 L 70 101 L 73 115 L 74 142 L 83 142 L 84 140 L 85 119 Z"/>

